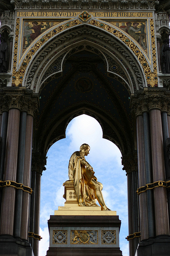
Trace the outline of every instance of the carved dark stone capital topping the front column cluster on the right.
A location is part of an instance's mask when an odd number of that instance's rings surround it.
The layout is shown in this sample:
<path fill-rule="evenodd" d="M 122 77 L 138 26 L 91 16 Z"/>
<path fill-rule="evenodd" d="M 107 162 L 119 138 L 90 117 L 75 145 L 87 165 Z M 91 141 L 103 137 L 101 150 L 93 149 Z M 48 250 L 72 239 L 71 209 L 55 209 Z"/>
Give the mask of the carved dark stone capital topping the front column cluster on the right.
<path fill-rule="evenodd" d="M 131 97 L 131 108 L 136 116 L 153 109 L 170 111 L 170 92 L 163 89 L 143 90 Z"/>

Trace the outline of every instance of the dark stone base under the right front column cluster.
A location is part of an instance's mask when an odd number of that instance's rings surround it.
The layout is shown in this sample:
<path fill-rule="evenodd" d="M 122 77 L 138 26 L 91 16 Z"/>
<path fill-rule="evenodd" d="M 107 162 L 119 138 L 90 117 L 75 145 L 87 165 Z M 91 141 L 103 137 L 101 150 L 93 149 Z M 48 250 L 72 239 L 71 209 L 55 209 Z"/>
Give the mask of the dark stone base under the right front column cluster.
<path fill-rule="evenodd" d="M 135 256 L 169 256 L 170 237 L 158 236 L 142 241 L 136 250 Z"/>

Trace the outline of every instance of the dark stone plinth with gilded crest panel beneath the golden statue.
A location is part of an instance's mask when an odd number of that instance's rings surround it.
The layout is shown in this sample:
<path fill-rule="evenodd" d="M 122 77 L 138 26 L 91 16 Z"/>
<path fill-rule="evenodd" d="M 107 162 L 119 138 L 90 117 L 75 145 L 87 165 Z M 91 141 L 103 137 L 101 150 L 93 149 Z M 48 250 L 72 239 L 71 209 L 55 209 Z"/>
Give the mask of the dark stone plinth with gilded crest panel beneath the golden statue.
<path fill-rule="evenodd" d="M 92 216 L 90 210 L 88 212 L 88 216 L 50 217 L 47 256 L 122 256 L 118 216 Z"/>

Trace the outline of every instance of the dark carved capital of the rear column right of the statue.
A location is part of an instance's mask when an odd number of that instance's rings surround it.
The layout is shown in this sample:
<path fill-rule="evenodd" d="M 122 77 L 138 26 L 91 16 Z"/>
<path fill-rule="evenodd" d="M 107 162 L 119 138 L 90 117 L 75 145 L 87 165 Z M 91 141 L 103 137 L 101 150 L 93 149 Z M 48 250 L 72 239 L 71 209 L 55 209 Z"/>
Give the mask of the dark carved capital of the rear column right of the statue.
<path fill-rule="evenodd" d="M 126 175 L 137 172 L 137 152 L 133 152 L 122 157 L 123 170 L 126 170 Z"/>

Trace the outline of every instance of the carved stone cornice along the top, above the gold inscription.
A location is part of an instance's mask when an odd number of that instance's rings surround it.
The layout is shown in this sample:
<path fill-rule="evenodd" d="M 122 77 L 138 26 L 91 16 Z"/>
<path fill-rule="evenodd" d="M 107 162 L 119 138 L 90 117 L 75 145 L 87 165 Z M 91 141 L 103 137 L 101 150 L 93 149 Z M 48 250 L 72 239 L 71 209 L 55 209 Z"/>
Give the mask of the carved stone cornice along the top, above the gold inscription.
<path fill-rule="evenodd" d="M 16 9 L 154 10 L 159 1 L 145 0 L 11 0 Z"/>

